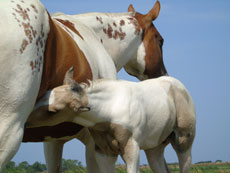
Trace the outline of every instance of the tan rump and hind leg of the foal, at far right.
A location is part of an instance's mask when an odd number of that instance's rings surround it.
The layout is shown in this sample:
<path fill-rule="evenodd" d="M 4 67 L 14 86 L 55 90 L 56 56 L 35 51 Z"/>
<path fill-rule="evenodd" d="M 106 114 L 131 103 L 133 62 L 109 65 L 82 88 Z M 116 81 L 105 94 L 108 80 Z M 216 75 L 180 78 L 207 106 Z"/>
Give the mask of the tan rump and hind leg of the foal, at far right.
<path fill-rule="evenodd" d="M 180 172 L 189 172 L 192 162 L 192 144 L 195 137 L 195 107 L 188 91 L 174 88 L 177 122 L 169 137 L 179 159 Z"/>

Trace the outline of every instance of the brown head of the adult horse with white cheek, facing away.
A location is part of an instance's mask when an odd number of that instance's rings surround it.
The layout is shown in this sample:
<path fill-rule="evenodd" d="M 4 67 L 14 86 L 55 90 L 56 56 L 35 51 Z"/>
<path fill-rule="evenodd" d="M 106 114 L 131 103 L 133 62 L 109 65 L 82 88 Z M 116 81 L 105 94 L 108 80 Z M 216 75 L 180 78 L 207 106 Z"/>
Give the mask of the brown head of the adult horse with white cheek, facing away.
<path fill-rule="evenodd" d="M 162 54 L 164 39 L 152 23 L 159 15 L 160 2 L 157 1 L 145 15 L 136 12 L 132 5 L 129 6 L 128 11 L 135 13 L 136 21 L 133 22 L 136 30 L 137 32 L 142 30 L 143 34 L 142 43 L 137 50 L 137 54 L 134 55 L 137 57 L 132 58 L 125 65 L 126 72 L 140 80 L 167 75 Z"/>

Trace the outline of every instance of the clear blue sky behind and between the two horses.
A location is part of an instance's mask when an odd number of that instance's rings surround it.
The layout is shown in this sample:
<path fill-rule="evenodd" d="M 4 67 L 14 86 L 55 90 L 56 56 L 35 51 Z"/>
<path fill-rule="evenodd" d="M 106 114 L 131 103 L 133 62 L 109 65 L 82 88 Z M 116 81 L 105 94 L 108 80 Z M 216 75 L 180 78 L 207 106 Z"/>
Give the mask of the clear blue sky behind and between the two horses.
<path fill-rule="evenodd" d="M 125 12 L 130 3 L 147 13 L 154 0 L 42 0 L 52 14 L 64 12 Z M 169 75 L 181 80 L 190 91 L 197 112 L 197 135 L 193 163 L 230 161 L 230 1 L 161 0 L 161 12 L 154 22 L 164 37 L 164 63 Z M 119 78 L 137 81 L 123 70 Z M 167 162 L 177 162 L 167 147 Z M 85 164 L 84 146 L 77 140 L 65 145 L 65 159 Z M 42 143 L 22 144 L 13 161 L 45 162 Z M 118 160 L 122 163 L 121 159 Z M 141 153 L 141 164 L 147 163 Z"/>

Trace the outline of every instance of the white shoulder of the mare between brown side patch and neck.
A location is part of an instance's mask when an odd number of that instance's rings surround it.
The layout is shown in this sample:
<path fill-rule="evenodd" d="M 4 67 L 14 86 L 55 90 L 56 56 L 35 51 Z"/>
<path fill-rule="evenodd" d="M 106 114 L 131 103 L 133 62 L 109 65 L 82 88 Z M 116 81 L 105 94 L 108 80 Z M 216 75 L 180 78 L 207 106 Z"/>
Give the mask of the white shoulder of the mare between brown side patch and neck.
<path fill-rule="evenodd" d="M 71 15 L 62 15 L 54 17 L 54 19 L 62 21 L 62 23 L 67 24 L 68 27 L 71 26 L 70 28 L 72 28 L 72 30 L 75 30 L 76 37 L 74 40 L 82 52 L 84 52 L 94 79 L 117 78 L 114 62 L 101 43 L 98 34 L 96 34 L 92 28 L 76 20 L 76 18 Z"/>

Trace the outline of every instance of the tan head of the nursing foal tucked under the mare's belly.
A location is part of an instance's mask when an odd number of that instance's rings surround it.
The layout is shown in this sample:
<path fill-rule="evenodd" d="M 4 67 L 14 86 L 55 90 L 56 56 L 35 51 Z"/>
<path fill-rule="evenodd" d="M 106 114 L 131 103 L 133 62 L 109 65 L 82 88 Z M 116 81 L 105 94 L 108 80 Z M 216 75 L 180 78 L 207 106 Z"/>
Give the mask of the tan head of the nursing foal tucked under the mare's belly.
<path fill-rule="evenodd" d="M 74 69 L 66 72 L 64 83 L 41 97 L 26 122 L 27 128 L 72 122 L 73 112 L 89 111 L 84 88 L 73 79 Z"/>

